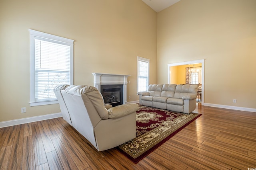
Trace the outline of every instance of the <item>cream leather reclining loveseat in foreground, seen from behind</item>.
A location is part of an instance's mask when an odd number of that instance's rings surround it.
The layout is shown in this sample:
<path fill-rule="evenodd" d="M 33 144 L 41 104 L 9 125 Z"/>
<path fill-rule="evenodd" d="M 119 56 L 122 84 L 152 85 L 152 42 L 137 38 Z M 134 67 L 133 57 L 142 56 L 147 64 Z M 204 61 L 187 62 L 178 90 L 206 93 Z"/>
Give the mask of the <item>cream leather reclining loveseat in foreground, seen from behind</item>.
<path fill-rule="evenodd" d="M 106 109 L 102 95 L 93 86 L 62 85 L 56 86 L 54 92 L 63 118 L 69 121 L 68 113 L 70 125 L 98 151 L 117 147 L 136 137 L 137 104 Z"/>

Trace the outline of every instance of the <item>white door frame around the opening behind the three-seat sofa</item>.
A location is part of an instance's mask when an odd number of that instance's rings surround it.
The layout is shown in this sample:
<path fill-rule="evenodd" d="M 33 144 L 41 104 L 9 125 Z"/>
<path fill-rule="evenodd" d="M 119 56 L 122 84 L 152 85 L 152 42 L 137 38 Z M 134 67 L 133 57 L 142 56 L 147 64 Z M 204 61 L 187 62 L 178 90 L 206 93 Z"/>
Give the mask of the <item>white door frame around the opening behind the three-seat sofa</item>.
<path fill-rule="evenodd" d="M 201 96 L 202 106 L 204 105 L 204 60 L 205 59 L 168 64 L 168 83 L 169 84 L 170 84 L 170 67 L 171 66 L 181 66 L 181 65 L 186 65 L 186 64 L 198 64 L 198 63 L 202 64 L 202 96 Z"/>

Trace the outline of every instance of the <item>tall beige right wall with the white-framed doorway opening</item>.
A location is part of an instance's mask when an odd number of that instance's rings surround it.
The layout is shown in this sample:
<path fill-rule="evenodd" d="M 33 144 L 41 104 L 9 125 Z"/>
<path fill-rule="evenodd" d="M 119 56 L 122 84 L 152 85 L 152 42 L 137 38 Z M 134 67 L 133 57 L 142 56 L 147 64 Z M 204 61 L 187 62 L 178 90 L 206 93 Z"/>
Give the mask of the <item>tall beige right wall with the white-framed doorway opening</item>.
<path fill-rule="evenodd" d="M 181 0 L 159 12 L 157 83 L 168 82 L 167 64 L 205 59 L 205 103 L 256 108 L 255 9 L 256 0 Z"/>

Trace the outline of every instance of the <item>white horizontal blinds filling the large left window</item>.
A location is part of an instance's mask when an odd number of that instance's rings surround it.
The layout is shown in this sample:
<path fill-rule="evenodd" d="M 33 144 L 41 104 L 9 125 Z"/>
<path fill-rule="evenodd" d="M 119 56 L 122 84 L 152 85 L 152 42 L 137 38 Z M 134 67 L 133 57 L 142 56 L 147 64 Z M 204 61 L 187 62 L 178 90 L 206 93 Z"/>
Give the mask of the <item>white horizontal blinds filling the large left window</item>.
<path fill-rule="evenodd" d="M 70 45 L 35 37 L 35 102 L 56 100 L 59 84 L 70 84 Z"/>

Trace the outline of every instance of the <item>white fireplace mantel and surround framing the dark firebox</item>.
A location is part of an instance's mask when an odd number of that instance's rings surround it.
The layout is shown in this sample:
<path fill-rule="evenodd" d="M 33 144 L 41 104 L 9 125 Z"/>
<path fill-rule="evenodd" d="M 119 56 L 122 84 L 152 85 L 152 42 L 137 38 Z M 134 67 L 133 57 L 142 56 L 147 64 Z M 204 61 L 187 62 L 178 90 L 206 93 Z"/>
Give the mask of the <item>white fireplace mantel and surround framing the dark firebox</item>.
<path fill-rule="evenodd" d="M 94 75 L 94 87 L 100 91 L 100 85 L 122 84 L 123 102 L 127 103 L 127 77 L 131 75 L 92 73 Z"/>

